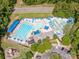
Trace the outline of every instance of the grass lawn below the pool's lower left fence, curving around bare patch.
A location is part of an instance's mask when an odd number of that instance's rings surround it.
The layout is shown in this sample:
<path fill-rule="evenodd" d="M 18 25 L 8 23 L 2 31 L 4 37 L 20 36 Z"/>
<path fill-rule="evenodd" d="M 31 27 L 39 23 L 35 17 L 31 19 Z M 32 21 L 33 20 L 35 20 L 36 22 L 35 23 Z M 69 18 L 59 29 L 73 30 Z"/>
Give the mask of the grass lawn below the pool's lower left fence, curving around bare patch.
<path fill-rule="evenodd" d="M 22 45 L 19 45 L 15 42 L 12 42 L 12 41 L 9 41 L 9 40 L 2 40 L 2 47 L 3 47 L 3 49 L 10 48 L 10 47 L 18 49 L 20 51 L 20 56 L 16 59 L 24 58 L 25 53 L 30 50 L 27 47 L 24 47 Z"/>

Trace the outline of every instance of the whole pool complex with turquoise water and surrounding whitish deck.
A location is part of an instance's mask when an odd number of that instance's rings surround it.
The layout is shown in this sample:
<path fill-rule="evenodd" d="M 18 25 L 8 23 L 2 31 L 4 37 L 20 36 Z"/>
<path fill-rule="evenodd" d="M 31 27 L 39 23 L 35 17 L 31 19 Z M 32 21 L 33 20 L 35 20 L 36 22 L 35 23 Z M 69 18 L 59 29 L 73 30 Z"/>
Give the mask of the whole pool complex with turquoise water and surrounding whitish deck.
<path fill-rule="evenodd" d="M 48 31 L 51 31 L 51 30 L 44 31 L 43 29 L 45 25 L 49 25 L 50 28 L 52 29 L 52 33 L 56 34 L 59 38 L 61 38 L 64 35 L 63 32 L 64 26 L 70 22 L 71 21 L 68 21 L 68 19 L 62 19 L 62 18 L 60 19 L 50 18 L 49 21 L 47 19 L 39 20 L 39 19 L 25 18 L 20 21 L 15 30 L 12 32 L 12 34 L 10 35 L 10 39 L 19 43 L 25 43 L 26 40 L 28 41 L 29 37 L 31 37 L 31 35 L 29 34 L 33 32 L 34 32 L 33 35 L 39 37 L 40 33 L 44 32 L 47 33 Z"/>

